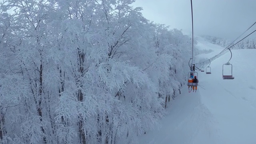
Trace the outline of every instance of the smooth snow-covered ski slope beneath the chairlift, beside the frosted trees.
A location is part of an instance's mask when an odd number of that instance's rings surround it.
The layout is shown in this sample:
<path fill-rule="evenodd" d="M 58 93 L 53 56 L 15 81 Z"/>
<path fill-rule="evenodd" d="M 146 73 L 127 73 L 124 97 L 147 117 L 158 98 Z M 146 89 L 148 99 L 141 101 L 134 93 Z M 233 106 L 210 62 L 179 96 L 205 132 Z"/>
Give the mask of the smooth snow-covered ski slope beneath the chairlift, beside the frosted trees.
<path fill-rule="evenodd" d="M 195 56 L 199 59 L 224 49 L 203 38 L 196 48 L 202 52 Z M 211 62 L 212 74 L 196 70 L 202 88 L 188 93 L 187 86 L 182 87 L 162 126 L 142 135 L 139 144 L 256 144 L 256 50 L 232 54 L 234 80 L 222 79 L 222 64 L 230 59 L 227 51 Z"/>

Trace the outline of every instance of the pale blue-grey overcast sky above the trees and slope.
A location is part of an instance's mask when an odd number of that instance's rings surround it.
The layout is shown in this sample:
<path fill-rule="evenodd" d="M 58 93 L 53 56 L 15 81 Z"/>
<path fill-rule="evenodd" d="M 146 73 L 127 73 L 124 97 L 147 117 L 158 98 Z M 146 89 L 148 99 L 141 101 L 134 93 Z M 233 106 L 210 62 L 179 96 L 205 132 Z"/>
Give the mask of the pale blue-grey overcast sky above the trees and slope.
<path fill-rule="evenodd" d="M 133 5 L 142 7 L 150 21 L 192 32 L 190 0 L 136 0 Z M 195 35 L 235 39 L 256 22 L 256 0 L 192 0 L 192 5 Z M 254 30 L 256 24 L 247 34 Z"/>

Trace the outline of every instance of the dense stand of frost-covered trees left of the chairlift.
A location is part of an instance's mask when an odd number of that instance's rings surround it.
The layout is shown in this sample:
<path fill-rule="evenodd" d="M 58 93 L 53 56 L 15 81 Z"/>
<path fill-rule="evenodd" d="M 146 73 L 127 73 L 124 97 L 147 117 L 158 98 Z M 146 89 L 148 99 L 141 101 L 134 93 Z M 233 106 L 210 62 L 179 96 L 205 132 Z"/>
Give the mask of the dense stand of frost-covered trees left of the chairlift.
<path fill-rule="evenodd" d="M 164 116 L 188 70 L 191 41 L 180 30 L 149 22 L 134 0 L 7 2 L 3 144 L 136 143 Z"/>

